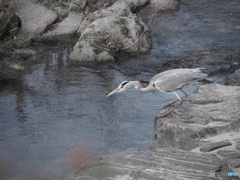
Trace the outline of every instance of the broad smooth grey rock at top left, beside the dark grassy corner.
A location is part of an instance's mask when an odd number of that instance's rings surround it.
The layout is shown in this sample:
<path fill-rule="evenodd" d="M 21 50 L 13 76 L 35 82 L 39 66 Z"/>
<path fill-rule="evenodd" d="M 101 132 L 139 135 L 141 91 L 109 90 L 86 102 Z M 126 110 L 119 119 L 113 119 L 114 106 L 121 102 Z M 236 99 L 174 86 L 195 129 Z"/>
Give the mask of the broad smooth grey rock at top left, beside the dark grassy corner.
<path fill-rule="evenodd" d="M 31 0 L 21 0 L 16 9 L 21 21 L 21 34 L 27 38 L 36 37 L 57 19 L 57 14 Z"/>

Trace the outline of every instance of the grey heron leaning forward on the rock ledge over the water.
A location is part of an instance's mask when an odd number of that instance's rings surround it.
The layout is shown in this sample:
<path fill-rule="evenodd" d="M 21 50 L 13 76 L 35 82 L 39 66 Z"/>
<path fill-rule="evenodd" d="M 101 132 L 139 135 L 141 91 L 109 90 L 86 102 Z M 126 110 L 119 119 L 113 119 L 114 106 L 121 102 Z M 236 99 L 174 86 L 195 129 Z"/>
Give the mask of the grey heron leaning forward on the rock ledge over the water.
<path fill-rule="evenodd" d="M 184 92 L 182 88 L 208 76 L 206 73 L 202 72 L 202 69 L 203 68 L 182 68 L 167 70 L 153 76 L 149 84 L 145 88 L 142 87 L 139 81 L 123 81 L 116 89 L 110 92 L 107 97 L 125 91 L 131 86 L 135 86 L 135 90 L 141 93 L 149 93 L 155 91 L 173 92 L 177 96 L 177 100 L 163 107 L 163 109 L 165 109 L 166 107 L 172 107 L 172 109 L 164 115 L 158 115 L 156 119 L 167 117 L 173 110 L 183 104 L 183 98 L 188 97 L 188 94 Z M 176 90 L 180 90 L 184 94 L 184 96 L 180 97 Z M 173 104 L 178 101 L 179 103 L 176 106 L 173 106 Z"/>

